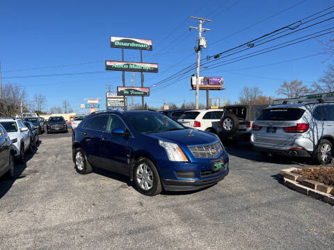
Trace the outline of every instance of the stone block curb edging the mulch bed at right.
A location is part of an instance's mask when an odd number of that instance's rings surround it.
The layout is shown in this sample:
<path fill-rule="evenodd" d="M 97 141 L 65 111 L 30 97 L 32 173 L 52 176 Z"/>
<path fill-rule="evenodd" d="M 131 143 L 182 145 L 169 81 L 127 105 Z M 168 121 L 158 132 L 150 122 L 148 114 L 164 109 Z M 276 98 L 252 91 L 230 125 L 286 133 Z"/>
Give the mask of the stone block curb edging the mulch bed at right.
<path fill-rule="evenodd" d="M 334 188 L 319 183 L 318 181 L 307 180 L 300 174 L 293 173 L 295 167 L 280 170 L 283 176 L 283 183 L 292 190 L 306 194 L 315 199 L 325 201 L 334 206 Z"/>

